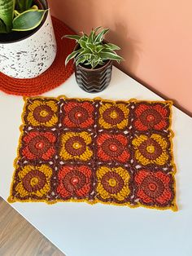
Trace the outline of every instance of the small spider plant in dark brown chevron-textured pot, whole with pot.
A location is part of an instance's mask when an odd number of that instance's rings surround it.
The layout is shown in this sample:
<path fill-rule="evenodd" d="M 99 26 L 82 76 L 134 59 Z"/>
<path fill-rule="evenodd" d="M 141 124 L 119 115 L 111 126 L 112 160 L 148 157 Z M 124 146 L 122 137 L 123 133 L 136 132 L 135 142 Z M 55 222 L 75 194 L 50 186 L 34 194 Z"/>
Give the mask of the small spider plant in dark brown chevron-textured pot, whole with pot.
<path fill-rule="evenodd" d="M 76 40 L 74 51 L 65 60 L 74 59 L 77 84 L 85 91 L 95 93 L 104 90 L 111 81 L 112 61 L 120 62 L 122 57 L 116 54 L 119 46 L 104 41 L 109 29 L 92 29 L 89 36 L 65 35 L 64 38 Z"/>

